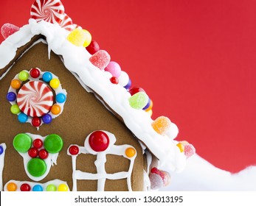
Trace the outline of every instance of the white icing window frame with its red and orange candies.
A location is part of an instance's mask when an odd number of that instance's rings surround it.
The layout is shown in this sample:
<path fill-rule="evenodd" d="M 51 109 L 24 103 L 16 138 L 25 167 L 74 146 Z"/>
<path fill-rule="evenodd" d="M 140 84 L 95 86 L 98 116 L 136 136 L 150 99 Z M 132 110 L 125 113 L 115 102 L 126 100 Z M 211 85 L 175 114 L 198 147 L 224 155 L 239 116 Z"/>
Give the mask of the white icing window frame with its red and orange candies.
<path fill-rule="evenodd" d="M 120 180 L 125 178 L 127 179 L 128 191 L 132 191 L 131 173 L 134 168 L 136 149 L 134 146 L 128 144 L 114 145 L 116 141 L 117 139 L 111 132 L 98 130 L 91 132 L 91 134 L 86 137 L 84 146 L 78 146 L 75 144 L 69 146 L 67 153 L 72 156 L 72 191 L 77 191 L 77 180 L 97 180 L 97 191 L 104 191 L 106 179 Z M 103 145 L 100 145 L 101 143 L 103 143 Z M 86 171 L 76 169 L 77 156 L 80 154 L 94 154 L 97 156 L 97 160 L 94 163 L 97 168 L 96 174 L 91 174 Z M 107 154 L 119 155 L 130 160 L 128 171 L 107 174 L 105 171 Z"/>

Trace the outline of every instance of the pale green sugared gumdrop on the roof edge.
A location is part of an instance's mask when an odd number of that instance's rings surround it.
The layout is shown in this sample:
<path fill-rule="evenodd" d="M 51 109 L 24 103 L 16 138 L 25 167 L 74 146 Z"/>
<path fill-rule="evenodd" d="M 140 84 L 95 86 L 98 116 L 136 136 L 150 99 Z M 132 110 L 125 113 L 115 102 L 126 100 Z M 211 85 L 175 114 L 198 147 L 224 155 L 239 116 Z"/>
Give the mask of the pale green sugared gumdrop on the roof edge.
<path fill-rule="evenodd" d="M 135 93 L 129 98 L 131 107 L 136 110 L 142 110 L 148 104 L 148 95 L 145 92 Z"/>

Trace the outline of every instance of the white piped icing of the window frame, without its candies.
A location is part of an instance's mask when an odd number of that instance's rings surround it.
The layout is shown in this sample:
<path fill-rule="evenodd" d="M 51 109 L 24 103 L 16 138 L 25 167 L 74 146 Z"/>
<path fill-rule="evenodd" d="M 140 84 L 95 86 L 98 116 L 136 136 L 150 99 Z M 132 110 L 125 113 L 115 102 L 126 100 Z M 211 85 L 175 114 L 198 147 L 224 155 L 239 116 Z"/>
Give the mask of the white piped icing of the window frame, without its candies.
<path fill-rule="evenodd" d="M 109 138 L 109 145 L 108 148 L 105 149 L 103 152 L 95 152 L 94 149 L 91 148 L 89 143 L 89 137 L 93 133 L 91 132 L 90 135 L 86 137 L 85 145 L 84 146 L 77 146 L 77 145 L 71 145 L 69 146 L 69 149 L 67 153 L 72 156 L 72 181 L 73 181 L 73 188 L 72 191 L 77 191 L 77 180 L 97 180 L 97 191 L 104 191 L 105 188 L 105 180 L 120 180 L 120 179 L 127 179 L 127 185 L 128 185 L 128 191 L 132 191 L 131 188 L 131 173 L 134 168 L 134 160 L 136 158 L 136 150 L 133 146 L 124 144 L 124 145 L 114 145 L 116 142 L 115 136 L 111 132 L 106 132 L 103 130 L 100 130 L 102 132 L 105 132 L 105 134 L 108 135 Z M 70 148 L 72 146 L 77 147 L 78 151 L 76 154 L 72 154 L 70 152 Z M 128 157 L 125 153 L 126 149 L 134 149 L 135 153 L 132 155 L 132 157 Z M 97 156 L 97 160 L 95 160 L 94 164 L 97 168 L 96 174 L 91 174 L 86 171 L 80 171 L 76 168 L 76 160 L 77 155 L 80 154 L 94 154 Z M 114 154 L 119 155 L 122 157 L 127 158 L 130 160 L 130 166 L 128 168 L 128 171 L 120 171 L 114 174 L 107 174 L 105 171 L 105 162 L 106 162 L 106 155 L 107 154 Z"/>

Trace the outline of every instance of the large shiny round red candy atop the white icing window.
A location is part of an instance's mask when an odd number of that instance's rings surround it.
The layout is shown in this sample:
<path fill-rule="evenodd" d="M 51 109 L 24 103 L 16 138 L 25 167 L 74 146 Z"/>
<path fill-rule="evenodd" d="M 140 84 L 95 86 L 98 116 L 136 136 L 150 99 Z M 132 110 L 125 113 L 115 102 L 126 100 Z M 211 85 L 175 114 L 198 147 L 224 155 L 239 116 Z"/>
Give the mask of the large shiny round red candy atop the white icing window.
<path fill-rule="evenodd" d="M 95 131 L 89 136 L 89 145 L 95 152 L 103 152 L 108 148 L 109 138 L 105 132 Z"/>

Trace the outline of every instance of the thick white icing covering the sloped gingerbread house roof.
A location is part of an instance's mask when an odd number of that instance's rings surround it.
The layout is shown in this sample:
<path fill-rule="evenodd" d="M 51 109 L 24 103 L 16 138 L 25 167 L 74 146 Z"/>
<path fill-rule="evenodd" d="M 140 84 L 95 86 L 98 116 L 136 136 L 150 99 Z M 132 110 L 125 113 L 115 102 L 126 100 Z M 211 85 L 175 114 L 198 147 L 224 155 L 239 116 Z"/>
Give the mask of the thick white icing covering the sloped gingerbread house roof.
<path fill-rule="evenodd" d="M 159 160 L 159 168 L 167 171 L 181 171 L 185 166 L 186 156 L 173 140 L 178 134 L 176 124 L 171 123 L 167 134 L 159 135 L 152 127 L 151 116 L 144 110 L 131 107 L 128 101 L 131 93 L 122 85 L 112 84 L 109 81 L 111 77 L 109 72 L 102 71 L 93 65 L 89 60 L 91 54 L 84 47 L 75 46 L 67 40 L 69 33 L 58 24 L 37 22 L 31 18 L 29 24 L 21 27 L 18 32 L 1 43 L 0 74 L 3 71 L 4 74 L 1 75 L 0 80 L 12 68 L 10 63 L 17 57 L 18 48 L 30 43 L 35 36 L 41 35 L 44 38 L 40 38 L 35 43 L 42 41 L 48 45 L 49 58 L 50 51 L 60 56 L 63 64 L 77 78 L 80 85 L 87 92 L 93 92 L 108 110 L 124 122 L 139 139 L 142 147 L 147 147 L 156 156 Z"/>

